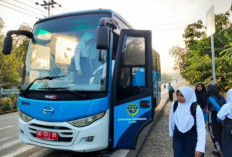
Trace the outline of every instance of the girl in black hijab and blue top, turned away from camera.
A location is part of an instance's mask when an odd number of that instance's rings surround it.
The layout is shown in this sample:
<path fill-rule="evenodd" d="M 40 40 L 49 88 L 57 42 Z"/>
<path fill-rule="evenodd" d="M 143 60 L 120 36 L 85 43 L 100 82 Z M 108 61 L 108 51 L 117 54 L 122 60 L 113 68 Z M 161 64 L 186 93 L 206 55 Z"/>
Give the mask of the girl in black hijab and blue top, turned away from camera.
<path fill-rule="evenodd" d="M 216 151 L 212 151 L 214 155 L 221 156 L 222 144 L 222 124 L 221 120 L 217 118 L 217 113 L 221 107 L 226 103 L 223 96 L 219 94 L 219 90 L 214 83 L 210 83 L 207 87 L 208 92 L 208 109 L 209 109 L 209 132 L 214 143 Z"/>

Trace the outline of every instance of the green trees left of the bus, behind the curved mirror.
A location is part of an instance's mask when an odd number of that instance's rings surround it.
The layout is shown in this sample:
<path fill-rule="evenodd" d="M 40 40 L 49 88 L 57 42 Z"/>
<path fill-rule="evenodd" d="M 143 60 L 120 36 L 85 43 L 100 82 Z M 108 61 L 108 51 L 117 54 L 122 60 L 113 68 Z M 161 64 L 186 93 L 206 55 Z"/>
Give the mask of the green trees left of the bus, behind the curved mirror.
<path fill-rule="evenodd" d="M 2 28 L 1 24 L 3 25 L 2 27 L 4 27 L 4 21 L 0 18 L 0 28 Z M 32 31 L 26 24 L 20 25 L 19 30 Z M 4 36 L 0 35 L 1 50 L 3 40 Z M 0 87 L 10 88 L 20 85 L 20 74 L 22 74 L 23 71 L 28 43 L 29 39 L 25 36 L 14 36 L 12 53 L 7 56 L 3 55 L 2 52 L 0 53 Z"/>

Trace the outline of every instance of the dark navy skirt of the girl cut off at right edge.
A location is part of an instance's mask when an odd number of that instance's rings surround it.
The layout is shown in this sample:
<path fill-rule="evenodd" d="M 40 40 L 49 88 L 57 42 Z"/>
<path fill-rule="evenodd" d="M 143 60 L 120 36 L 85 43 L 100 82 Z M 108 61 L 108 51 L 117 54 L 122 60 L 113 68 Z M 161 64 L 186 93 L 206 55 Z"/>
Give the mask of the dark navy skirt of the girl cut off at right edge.
<path fill-rule="evenodd" d="M 226 118 L 222 131 L 222 155 L 232 156 L 232 119 Z"/>

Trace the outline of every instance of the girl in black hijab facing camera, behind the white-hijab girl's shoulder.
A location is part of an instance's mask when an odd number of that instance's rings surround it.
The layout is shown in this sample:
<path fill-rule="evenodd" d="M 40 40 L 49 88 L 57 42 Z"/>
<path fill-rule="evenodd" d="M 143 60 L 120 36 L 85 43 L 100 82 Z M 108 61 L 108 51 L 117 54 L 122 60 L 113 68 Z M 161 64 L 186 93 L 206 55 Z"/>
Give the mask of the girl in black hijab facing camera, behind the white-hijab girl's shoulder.
<path fill-rule="evenodd" d="M 207 95 L 207 92 L 206 92 L 206 89 L 203 83 L 201 82 L 197 83 L 195 87 L 195 93 L 197 96 L 197 103 L 201 106 L 205 122 L 207 122 L 208 121 L 208 107 L 207 107 L 208 95 Z"/>

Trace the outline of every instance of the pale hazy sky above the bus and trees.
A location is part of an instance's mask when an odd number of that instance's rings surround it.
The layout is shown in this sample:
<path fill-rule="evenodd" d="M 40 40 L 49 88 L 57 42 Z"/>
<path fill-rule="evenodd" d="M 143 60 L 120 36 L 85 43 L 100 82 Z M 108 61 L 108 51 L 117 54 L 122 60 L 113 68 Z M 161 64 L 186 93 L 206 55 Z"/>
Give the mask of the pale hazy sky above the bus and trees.
<path fill-rule="evenodd" d="M 48 1 L 48 0 L 47 0 Z M 111 9 L 126 19 L 134 29 L 152 30 L 152 46 L 161 56 L 162 73 L 173 73 L 172 46 L 184 47 L 185 27 L 197 20 L 206 23 L 206 12 L 214 5 L 215 13 L 229 10 L 231 0 L 55 0 L 61 4 L 52 15 L 89 9 Z M 0 0 L 0 17 L 5 22 L 3 33 L 27 23 L 31 27 L 47 12 L 35 2 L 42 0 Z M 14 9 L 14 10 L 13 10 Z M 17 11 L 16 11 L 17 10 Z M 23 12 L 23 13 L 22 13 Z"/>

